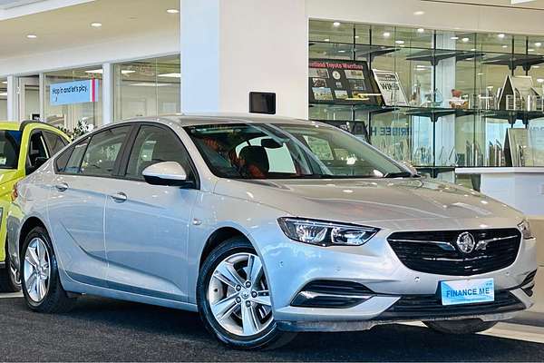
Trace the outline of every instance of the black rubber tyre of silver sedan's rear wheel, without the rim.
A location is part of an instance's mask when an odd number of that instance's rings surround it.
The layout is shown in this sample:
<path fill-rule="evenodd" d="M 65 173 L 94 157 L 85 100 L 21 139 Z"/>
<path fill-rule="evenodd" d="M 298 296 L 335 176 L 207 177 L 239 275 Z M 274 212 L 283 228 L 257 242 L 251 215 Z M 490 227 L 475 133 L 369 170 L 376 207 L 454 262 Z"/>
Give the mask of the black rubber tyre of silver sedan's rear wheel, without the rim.
<path fill-rule="evenodd" d="M 50 275 L 48 280 L 48 287 L 45 296 L 40 301 L 34 301 L 30 298 L 29 293 L 26 289 L 24 281 L 24 256 L 28 245 L 35 238 L 41 239 L 44 241 L 47 253 L 49 255 L 49 264 L 50 264 Z M 42 227 L 35 227 L 30 231 L 24 238 L 23 249 L 21 253 L 21 282 L 23 288 L 24 299 L 26 300 L 26 305 L 36 311 L 43 313 L 62 313 L 69 311 L 73 308 L 75 303 L 75 298 L 69 298 L 66 294 L 66 291 L 63 289 L 61 280 L 59 278 L 59 270 L 57 266 L 57 261 L 54 256 L 53 244 L 49 238 L 49 234 Z"/>

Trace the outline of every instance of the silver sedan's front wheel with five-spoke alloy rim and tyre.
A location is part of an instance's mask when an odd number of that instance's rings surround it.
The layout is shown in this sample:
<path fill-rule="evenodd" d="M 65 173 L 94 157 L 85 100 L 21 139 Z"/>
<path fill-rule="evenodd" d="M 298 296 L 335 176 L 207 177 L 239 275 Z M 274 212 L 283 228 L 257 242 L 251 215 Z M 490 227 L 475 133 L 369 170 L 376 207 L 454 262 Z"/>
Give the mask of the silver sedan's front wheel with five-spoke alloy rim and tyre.
<path fill-rule="evenodd" d="M 277 329 L 263 264 L 248 240 L 233 238 L 213 250 L 197 291 L 206 328 L 230 347 L 277 348 L 294 338 Z"/>

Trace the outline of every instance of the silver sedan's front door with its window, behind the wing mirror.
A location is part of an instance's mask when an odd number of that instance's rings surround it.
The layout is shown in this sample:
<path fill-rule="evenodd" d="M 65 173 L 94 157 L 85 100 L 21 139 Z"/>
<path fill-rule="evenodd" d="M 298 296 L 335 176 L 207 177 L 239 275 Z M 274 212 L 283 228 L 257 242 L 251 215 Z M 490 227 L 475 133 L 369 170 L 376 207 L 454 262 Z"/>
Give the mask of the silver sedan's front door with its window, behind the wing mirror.
<path fill-rule="evenodd" d="M 189 155 L 170 128 L 142 124 L 126 157 L 106 201 L 107 279 L 113 289 L 186 301 L 189 223 L 199 191 L 150 185 L 141 173 L 156 162 L 180 162 L 189 172 Z"/>

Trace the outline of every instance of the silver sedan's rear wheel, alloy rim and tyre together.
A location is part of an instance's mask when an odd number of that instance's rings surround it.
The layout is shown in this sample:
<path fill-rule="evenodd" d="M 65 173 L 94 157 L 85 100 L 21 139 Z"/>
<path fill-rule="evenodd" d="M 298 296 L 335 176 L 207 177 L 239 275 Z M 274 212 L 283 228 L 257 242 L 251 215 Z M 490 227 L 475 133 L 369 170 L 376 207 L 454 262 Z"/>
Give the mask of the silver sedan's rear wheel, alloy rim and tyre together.
<path fill-rule="evenodd" d="M 35 227 L 26 236 L 22 250 L 21 282 L 24 299 L 30 309 L 54 313 L 73 308 L 61 285 L 53 244 L 42 227 Z"/>

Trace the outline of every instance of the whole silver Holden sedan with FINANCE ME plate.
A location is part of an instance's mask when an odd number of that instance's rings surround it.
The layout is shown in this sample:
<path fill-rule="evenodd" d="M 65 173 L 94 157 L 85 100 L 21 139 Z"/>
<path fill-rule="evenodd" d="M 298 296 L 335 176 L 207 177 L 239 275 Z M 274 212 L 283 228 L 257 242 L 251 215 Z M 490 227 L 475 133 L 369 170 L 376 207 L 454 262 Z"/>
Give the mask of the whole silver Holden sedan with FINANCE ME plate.
<path fill-rule="evenodd" d="M 199 311 L 228 346 L 262 348 L 411 320 L 475 333 L 532 304 L 520 212 L 324 123 L 114 123 L 14 194 L 9 253 L 38 312 L 126 299 Z"/>

